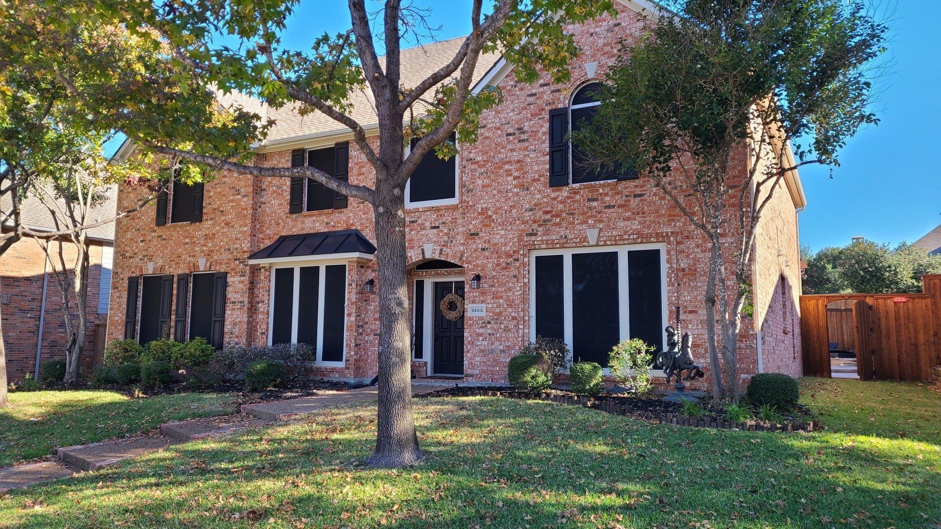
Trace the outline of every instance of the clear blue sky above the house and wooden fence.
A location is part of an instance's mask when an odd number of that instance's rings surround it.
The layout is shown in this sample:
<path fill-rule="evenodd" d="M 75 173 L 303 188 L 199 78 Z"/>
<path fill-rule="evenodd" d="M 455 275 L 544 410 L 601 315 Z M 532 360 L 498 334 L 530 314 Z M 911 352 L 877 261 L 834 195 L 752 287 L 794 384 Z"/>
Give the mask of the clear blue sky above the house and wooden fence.
<path fill-rule="evenodd" d="M 469 30 L 469 0 L 414 5 L 431 9 L 440 40 Z M 832 173 L 814 166 L 801 171 L 808 201 L 801 242 L 811 249 L 842 246 L 854 235 L 913 242 L 941 224 L 941 168 L 934 160 L 941 153 L 941 2 L 897 0 L 894 8 L 892 67 L 876 104 L 882 122 L 851 139 Z M 302 1 L 288 27 L 284 45 L 306 50 L 325 31 L 345 31 L 349 11 L 342 1 Z"/>

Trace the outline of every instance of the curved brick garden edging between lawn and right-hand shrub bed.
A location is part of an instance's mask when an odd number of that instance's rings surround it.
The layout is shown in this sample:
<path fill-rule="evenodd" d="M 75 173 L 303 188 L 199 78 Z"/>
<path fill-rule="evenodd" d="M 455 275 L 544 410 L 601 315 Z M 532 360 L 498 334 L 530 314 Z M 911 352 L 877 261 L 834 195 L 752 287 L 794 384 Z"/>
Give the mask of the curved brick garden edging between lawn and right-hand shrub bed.
<path fill-rule="evenodd" d="M 567 406 L 583 406 L 590 409 L 598 409 L 598 411 L 604 411 L 607 413 L 613 413 L 614 415 L 625 415 L 632 417 L 634 419 L 641 419 L 653 424 L 665 424 L 665 425 L 678 425 L 678 426 L 693 426 L 697 428 L 716 428 L 716 429 L 739 429 L 739 430 L 751 430 L 751 431 L 787 431 L 787 432 L 812 432 L 815 429 L 821 429 L 821 425 L 815 425 L 813 421 L 803 422 L 803 421 L 788 421 L 784 424 L 778 423 L 764 423 L 761 421 L 743 421 L 741 423 L 732 423 L 726 421 L 724 417 L 704 417 L 702 419 L 694 419 L 690 417 L 684 417 L 678 413 L 662 413 L 662 412 L 651 412 L 651 411 L 642 411 L 639 409 L 633 409 L 630 405 L 626 404 L 615 404 L 613 402 L 599 402 L 590 397 L 578 397 L 571 395 L 564 395 L 559 393 L 526 393 L 526 392 L 507 392 L 507 391 L 487 391 L 487 390 L 470 390 L 468 393 L 462 393 L 460 395 L 454 395 L 451 393 L 445 393 L 445 390 L 432 393 L 424 393 L 423 397 L 435 397 L 435 398 L 448 398 L 448 397 L 457 397 L 457 396 L 499 396 L 504 398 L 518 398 L 526 400 L 544 400 L 548 402 L 554 402 L 556 404 L 564 404 Z"/>

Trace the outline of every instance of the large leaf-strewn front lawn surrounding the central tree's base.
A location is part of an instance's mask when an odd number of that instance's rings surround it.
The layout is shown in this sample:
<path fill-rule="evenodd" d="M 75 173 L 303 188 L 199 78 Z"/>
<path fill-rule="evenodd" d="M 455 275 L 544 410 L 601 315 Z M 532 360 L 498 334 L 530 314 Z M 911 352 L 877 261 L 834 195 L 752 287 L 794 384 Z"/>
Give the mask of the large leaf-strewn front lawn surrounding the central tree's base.
<path fill-rule="evenodd" d="M 924 404 L 941 406 L 941 396 Z M 415 409 L 427 457 L 414 468 L 358 466 L 375 436 L 375 406 L 363 404 L 12 491 L 0 500 L 0 526 L 901 528 L 941 521 L 941 446 L 914 434 L 650 425 L 494 397 L 418 399 Z"/>

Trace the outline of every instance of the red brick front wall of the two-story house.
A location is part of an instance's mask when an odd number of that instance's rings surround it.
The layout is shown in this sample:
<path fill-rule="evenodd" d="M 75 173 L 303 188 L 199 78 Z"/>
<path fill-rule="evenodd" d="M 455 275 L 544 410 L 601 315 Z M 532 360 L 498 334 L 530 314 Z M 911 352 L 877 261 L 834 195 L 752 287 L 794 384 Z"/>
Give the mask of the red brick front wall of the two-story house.
<path fill-rule="evenodd" d="M 682 325 L 694 334 L 694 355 L 708 363 L 702 348 L 705 334 L 702 300 L 709 259 L 705 237 L 664 194 L 644 179 L 629 182 L 548 185 L 548 113 L 565 106 L 574 88 L 587 79 L 584 63 L 598 61 L 599 72 L 614 60 L 619 41 L 640 24 L 636 13 L 623 8 L 616 20 L 573 26 L 582 56 L 571 65 L 573 79 L 565 87 L 547 78 L 522 85 L 512 75 L 500 85 L 504 103 L 482 117 L 479 141 L 463 146 L 459 156 L 459 203 L 409 209 L 407 245 L 413 261 L 423 259 L 424 245 L 435 257 L 464 265 L 467 281 L 476 273 L 483 287 L 467 290 L 467 303 L 486 303 L 486 317 L 468 318 L 465 330 L 465 374 L 468 380 L 501 382 L 506 363 L 529 339 L 529 252 L 537 248 L 588 245 L 586 228 L 598 228 L 598 245 L 661 243 L 666 247 L 667 304 L 683 307 Z M 309 145 L 318 147 L 322 145 Z M 742 153 L 743 154 L 743 153 Z M 290 151 L 260 155 L 256 163 L 289 165 Z M 743 179 L 744 162 L 735 178 Z M 350 149 L 350 182 L 374 184 L 372 168 Z M 120 338 L 124 290 L 128 275 L 156 264 L 156 273 L 191 270 L 199 257 L 212 269 L 230 274 L 226 344 L 267 343 L 268 268 L 249 266 L 247 255 L 288 233 L 356 228 L 375 240 L 371 206 L 349 200 L 343 210 L 291 215 L 288 180 L 224 174 L 205 186 L 204 221 L 194 225 L 153 226 L 153 209 L 121 219 L 115 257 L 115 295 L 110 338 Z M 121 206 L 129 192 L 121 189 Z M 796 232 L 794 233 L 796 237 Z M 732 248 L 730 237 L 727 245 Z M 796 243 L 795 243 L 796 244 Z M 730 254 L 730 251 L 729 251 Z M 729 270 L 732 269 L 731 262 Z M 375 264 L 350 267 L 347 286 L 346 364 L 320 368 L 331 377 L 373 377 L 378 332 L 375 293 L 361 285 L 375 278 Z M 453 274 L 451 274 L 453 275 Z M 728 278 L 734 292 L 732 278 Z M 672 316 L 671 316 L 672 317 Z M 751 322 L 742 335 L 742 372 L 757 369 Z M 416 366 L 418 367 L 418 366 Z M 708 378 L 707 378 L 708 379 Z"/>

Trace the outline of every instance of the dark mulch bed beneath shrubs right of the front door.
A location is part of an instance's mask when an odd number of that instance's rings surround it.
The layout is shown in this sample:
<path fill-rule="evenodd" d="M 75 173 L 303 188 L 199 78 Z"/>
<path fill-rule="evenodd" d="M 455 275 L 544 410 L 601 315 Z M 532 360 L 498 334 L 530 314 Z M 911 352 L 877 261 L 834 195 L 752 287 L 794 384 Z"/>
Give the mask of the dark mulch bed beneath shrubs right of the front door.
<path fill-rule="evenodd" d="M 625 415 L 653 424 L 694 426 L 700 428 L 805 432 L 822 429 L 821 425 L 800 418 L 788 418 L 784 423 L 778 424 L 758 420 L 733 423 L 727 421 L 721 413 L 716 413 L 713 416 L 707 416 L 701 419 L 686 417 L 679 413 L 682 409 L 680 404 L 665 401 L 662 395 L 636 397 L 620 394 L 604 394 L 592 398 L 555 389 L 540 393 L 526 393 L 520 392 L 512 387 L 456 387 L 439 390 L 433 393 L 424 393 L 421 396 L 438 398 L 455 396 L 500 396 L 505 398 L 545 400 L 568 406 L 583 406 L 585 408 L 598 409 L 599 411 Z M 714 413 L 715 410 L 711 411 Z"/>

